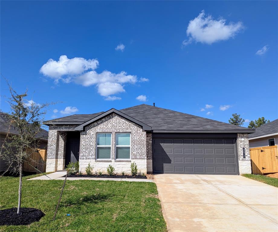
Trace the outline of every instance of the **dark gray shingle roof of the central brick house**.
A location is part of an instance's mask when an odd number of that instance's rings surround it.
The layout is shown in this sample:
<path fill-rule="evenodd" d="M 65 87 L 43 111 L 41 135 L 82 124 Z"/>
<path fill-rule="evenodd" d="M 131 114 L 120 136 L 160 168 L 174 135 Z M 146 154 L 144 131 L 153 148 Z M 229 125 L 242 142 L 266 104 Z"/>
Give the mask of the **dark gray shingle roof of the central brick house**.
<path fill-rule="evenodd" d="M 137 105 L 130 108 L 119 110 L 127 114 L 129 117 L 136 119 L 148 126 L 152 127 L 153 132 L 233 132 L 233 133 L 253 133 L 246 127 L 231 125 L 228 123 L 202 118 L 191 114 L 185 114 L 173 110 L 154 107 L 151 105 Z M 95 114 L 74 114 L 63 118 L 57 118 L 46 121 L 46 125 L 51 124 L 82 124 L 103 114 L 99 112 Z"/>

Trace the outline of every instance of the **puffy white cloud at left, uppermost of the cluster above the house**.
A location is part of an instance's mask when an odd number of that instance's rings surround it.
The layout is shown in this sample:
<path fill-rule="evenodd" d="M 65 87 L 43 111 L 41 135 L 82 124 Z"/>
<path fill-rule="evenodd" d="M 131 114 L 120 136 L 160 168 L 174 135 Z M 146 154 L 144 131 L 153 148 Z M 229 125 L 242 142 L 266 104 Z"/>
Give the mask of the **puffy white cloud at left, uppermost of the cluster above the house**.
<path fill-rule="evenodd" d="M 58 81 L 62 76 L 80 75 L 83 72 L 96 69 L 99 65 L 99 61 L 96 59 L 86 60 L 82 57 L 74 57 L 69 59 L 67 56 L 60 56 L 59 60 L 49 59 L 41 68 L 40 72 L 45 76 Z"/>

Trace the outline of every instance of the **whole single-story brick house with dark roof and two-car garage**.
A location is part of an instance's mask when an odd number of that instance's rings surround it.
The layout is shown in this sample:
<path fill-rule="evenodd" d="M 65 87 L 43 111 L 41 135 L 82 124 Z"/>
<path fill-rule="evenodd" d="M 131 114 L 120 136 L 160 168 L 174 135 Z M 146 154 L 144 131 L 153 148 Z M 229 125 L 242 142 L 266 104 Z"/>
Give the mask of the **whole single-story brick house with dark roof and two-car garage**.
<path fill-rule="evenodd" d="M 79 161 L 85 172 L 251 173 L 248 134 L 255 130 L 151 105 L 74 114 L 49 126 L 47 172 Z"/>

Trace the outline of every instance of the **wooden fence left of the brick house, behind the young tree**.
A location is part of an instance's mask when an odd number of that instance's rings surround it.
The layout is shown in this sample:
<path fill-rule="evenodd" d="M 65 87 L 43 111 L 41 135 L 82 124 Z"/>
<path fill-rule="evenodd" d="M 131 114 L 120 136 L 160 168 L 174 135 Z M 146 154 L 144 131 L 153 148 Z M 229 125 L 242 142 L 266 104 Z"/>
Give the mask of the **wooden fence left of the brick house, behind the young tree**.
<path fill-rule="evenodd" d="M 33 151 L 32 149 L 29 149 L 29 152 L 31 153 L 31 155 L 28 159 L 28 163 L 30 163 L 35 168 L 39 169 L 41 172 L 45 172 L 47 150 L 38 149 L 37 151 Z M 36 172 L 37 174 L 40 173 L 32 166 L 30 166 L 28 163 L 26 162 L 23 163 L 23 171 Z"/>

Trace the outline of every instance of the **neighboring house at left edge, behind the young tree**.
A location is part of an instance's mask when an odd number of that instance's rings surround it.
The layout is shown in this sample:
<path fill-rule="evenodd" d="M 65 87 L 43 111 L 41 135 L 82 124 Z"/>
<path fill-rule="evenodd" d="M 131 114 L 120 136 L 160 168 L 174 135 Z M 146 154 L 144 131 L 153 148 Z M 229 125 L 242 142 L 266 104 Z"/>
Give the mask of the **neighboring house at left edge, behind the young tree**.
<path fill-rule="evenodd" d="M 0 112 L 0 149 L 2 148 L 2 145 L 5 140 L 6 143 L 9 142 L 9 140 L 6 139 L 8 133 L 12 135 L 18 135 L 18 131 L 15 129 L 15 127 L 10 126 L 7 114 Z M 40 140 L 39 148 L 47 149 L 48 131 L 41 129 L 41 131 L 37 133 L 36 137 L 38 138 L 38 140 Z M 5 159 L 1 159 L 0 172 L 5 172 L 7 169 L 8 169 L 7 161 Z"/>

